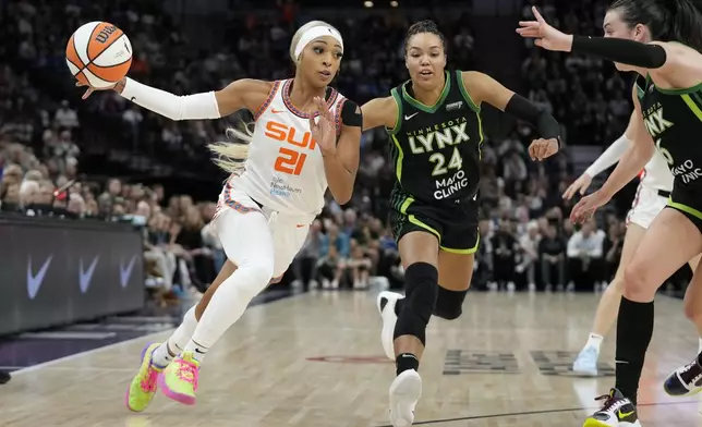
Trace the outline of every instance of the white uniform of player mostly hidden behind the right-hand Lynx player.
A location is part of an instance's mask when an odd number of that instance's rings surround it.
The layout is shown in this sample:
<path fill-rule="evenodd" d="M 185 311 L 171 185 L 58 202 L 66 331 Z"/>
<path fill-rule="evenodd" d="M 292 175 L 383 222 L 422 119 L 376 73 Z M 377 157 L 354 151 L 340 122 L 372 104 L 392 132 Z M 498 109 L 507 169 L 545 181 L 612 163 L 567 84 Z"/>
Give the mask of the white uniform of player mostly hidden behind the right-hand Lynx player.
<path fill-rule="evenodd" d="M 653 219 L 661 213 L 673 191 L 673 173 L 665 158 L 656 150 L 642 171 L 627 224 L 633 222 L 649 229 Z"/>

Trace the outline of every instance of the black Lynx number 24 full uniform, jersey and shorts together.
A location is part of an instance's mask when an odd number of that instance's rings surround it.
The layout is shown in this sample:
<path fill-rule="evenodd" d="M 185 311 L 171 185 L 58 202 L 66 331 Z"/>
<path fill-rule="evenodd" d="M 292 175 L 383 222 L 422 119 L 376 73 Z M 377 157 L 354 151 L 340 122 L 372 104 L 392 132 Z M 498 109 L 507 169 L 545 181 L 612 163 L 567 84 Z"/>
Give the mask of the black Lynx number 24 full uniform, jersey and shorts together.
<path fill-rule="evenodd" d="M 390 195 L 395 239 L 426 231 L 445 251 L 474 253 L 483 130 L 461 72 L 446 72 L 444 91 L 431 107 L 412 97 L 410 82 L 391 94 L 398 106 L 397 124 L 388 130 L 397 176 Z"/>

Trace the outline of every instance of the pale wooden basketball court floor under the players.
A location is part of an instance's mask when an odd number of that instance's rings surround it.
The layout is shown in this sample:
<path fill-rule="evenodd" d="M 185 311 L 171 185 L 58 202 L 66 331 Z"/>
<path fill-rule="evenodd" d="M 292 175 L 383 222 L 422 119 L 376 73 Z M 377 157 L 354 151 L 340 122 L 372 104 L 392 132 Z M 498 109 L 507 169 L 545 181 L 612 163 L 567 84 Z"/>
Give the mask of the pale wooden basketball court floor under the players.
<path fill-rule="evenodd" d="M 311 292 L 251 307 L 207 355 L 192 407 L 161 394 L 142 414 L 124 406 L 142 347 L 167 330 L 20 369 L 0 387 L 0 426 L 388 426 L 395 368 L 379 344 L 374 297 Z M 580 427 L 614 381 L 614 335 L 603 346 L 601 377 L 569 371 L 596 298 L 471 293 L 459 320 L 432 319 L 415 424 Z M 656 301 L 639 399 L 644 427 L 702 426 L 698 398 L 669 398 L 661 387 L 697 354 L 681 307 L 680 300 Z"/>

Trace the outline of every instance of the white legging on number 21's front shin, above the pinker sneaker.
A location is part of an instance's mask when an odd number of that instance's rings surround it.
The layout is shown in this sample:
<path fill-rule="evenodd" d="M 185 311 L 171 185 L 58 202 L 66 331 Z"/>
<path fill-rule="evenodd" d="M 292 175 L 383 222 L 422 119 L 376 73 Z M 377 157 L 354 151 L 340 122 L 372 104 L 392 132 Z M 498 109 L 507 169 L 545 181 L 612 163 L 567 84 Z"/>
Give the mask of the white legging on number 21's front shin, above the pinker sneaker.
<path fill-rule="evenodd" d="M 244 314 L 254 296 L 268 285 L 270 267 L 256 263 L 239 266 L 213 295 L 184 351 L 192 352 L 202 362 L 207 351 Z"/>

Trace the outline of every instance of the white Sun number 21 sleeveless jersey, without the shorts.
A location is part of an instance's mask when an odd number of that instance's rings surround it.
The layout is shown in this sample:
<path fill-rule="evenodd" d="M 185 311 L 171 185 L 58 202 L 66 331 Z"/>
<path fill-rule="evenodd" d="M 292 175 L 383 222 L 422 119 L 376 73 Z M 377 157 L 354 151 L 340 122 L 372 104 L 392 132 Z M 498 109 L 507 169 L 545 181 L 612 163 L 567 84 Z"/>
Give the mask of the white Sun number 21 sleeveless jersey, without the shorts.
<path fill-rule="evenodd" d="M 227 180 L 220 205 L 231 199 L 231 191 L 241 191 L 281 213 L 316 216 L 322 211 L 327 191 L 324 160 L 310 132 L 310 115 L 290 100 L 292 83 L 293 80 L 275 82 L 268 98 L 254 113 L 245 169 Z M 346 97 L 328 88 L 326 99 L 340 135 Z"/>

